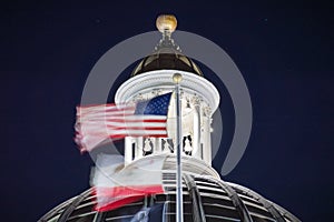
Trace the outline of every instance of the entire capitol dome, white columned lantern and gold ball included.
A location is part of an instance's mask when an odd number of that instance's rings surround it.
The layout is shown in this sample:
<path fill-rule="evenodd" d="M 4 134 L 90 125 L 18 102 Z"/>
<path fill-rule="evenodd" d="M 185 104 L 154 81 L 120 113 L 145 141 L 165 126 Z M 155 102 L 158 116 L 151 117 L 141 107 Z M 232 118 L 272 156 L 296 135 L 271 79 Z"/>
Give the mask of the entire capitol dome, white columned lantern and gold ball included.
<path fill-rule="evenodd" d="M 176 28 L 173 16 L 159 17 L 157 26 L 163 39 L 151 56 L 144 58 L 131 78 L 124 82 L 116 103 L 137 102 L 170 92 L 171 77 L 180 73 L 181 84 L 181 191 L 185 222 L 298 222 L 292 213 L 242 185 L 219 178 L 212 168 L 212 115 L 219 104 L 215 85 L 170 38 Z M 169 109 L 174 110 L 171 102 Z M 168 113 L 168 134 L 175 133 L 174 112 Z M 175 138 L 125 138 L 125 165 L 164 157 L 163 194 L 146 195 L 120 208 L 98 212 L 97 196 L 89 189 L 45 214 L 40 222 L 175 222 L 177 155 Z M 188 143 L 187 143 L 188 142 Z M 150 152 L 145 152 L 146 145 Z M 186 148 L 187 147 L 187 148 Z M 178 186 L 179 188 L 179 186 Z"/>

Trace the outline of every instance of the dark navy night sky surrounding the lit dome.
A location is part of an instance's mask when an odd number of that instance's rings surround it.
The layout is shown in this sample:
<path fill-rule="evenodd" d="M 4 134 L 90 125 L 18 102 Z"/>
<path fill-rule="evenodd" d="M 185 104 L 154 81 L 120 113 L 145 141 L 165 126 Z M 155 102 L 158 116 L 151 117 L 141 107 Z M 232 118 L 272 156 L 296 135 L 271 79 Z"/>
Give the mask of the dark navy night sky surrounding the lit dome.
<path fill-rule="evenodd" d="M 1 1 L 1 221 L 37 221 L 89 186 L 94 163 L 72 141 L 86 78 L 106 51 L 156 30 L 156 17 L 166 12 L 176 14 L 179 30 L 222 47 L 247 83 L 253 131 L 224 180 L 303 221 L 334 218 L 333 4 L 217 2 Z M 217 169 L 234 129 L 222 91 Z"/>

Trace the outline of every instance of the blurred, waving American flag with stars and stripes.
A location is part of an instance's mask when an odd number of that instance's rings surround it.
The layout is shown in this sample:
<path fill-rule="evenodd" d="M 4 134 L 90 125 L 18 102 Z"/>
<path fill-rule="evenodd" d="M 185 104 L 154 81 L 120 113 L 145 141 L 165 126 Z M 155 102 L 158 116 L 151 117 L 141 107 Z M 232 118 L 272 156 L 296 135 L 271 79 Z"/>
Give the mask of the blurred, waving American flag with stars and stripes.
<path fill-rule="evenodd" d="M 125 137 L 167 138 L 171 92 L 137 104 L 77 107 L 76 138 L 81 152 Z"/>

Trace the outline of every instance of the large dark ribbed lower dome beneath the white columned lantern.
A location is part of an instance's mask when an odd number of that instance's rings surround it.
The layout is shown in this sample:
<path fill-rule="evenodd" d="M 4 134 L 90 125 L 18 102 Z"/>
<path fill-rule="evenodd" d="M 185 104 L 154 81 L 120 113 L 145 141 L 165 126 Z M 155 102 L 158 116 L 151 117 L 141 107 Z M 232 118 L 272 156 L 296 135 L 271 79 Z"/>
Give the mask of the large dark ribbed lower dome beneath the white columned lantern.
<path fill-rule="evenodd" d="M 151 214 L 148 220 L 150 222 L 175 222 L 176 176 L 175 171 L 173 171 L 175 164 L 170 163 L 164 167 L 163 181 L 166 191 L 165 194 L 149 195 L 144 200 L 119 209 L 99 213 L 92 210 L 96 203 L 92 190 L 87 190 L 51 210 L 40 219 L 40 222 L 130 222 L 135 215 L 138 216 L 143 212 L 146 212 L 147 216 L 147 209 L 149 209 L 149 212 L 153 212 L 149 213 Z M 249 189 L 222 181 L 207 173 L 204 174 L 183 174 L 185 222 L 299 221 L 283 208 Z M 157 215 L 159 218 L 154 219 Z"/>

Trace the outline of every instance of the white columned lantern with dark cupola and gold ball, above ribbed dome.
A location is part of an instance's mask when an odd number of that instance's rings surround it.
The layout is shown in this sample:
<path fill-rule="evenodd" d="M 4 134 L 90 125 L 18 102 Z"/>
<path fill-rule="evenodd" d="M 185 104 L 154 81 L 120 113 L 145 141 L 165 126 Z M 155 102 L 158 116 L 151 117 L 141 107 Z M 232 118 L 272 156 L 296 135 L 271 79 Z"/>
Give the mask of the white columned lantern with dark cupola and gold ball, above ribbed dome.
<path fill-rule="evenodd" d="M 174 16 L 159 16 L 156 21 L 163 38 L 153 54 L 144 58 L 135 68 L 130 79 L 116 92 L 116 103 L 137 103 L 154 97 L 173 92 L 173 75 L 183 77 L 180 83 L 183 155 L 212 164 L 210 123 L 212 114 L 218 108 L 219 93 L 215 85 L 203 77 L 198 65 L 181 54 L 171 39 L 177 20 Z M 176 113 L 175 102 L 169 104 L 168 138 L 125 139 L 126 164 L 151 154 L 174 154 Z M 150 148 L 150 152 L 146 152 Z"/>

